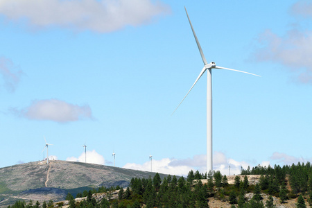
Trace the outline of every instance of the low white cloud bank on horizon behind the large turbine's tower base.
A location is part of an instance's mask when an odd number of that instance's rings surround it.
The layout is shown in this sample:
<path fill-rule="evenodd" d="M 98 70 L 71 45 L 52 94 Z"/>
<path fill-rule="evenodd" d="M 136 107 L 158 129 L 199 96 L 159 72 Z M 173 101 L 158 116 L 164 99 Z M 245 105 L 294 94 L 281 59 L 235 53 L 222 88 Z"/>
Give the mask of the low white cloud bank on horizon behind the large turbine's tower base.
<path fill-rule="evenodd" d="M 229 174 L 229 164 L 231 166 L 231 175 L 240 174 L 241 166 L 248 168 L 247 162 L 237 162 L 234 159 L 227 158 L 224 153 L 214 153 L 214 170 L 220 171 L 223 175 Z M 140 171 L 150 171 L 150 161 L 144 164 L 128 163 L 123 168 L 135 169 Z M 193 158 L 187 159 L 153 159 L 152 162 L 153 172 L 165 173 L 171 175 L 184 175 L 187 176 L 189 171 L 206 172 L 206 155 L 195 155 Z"/>

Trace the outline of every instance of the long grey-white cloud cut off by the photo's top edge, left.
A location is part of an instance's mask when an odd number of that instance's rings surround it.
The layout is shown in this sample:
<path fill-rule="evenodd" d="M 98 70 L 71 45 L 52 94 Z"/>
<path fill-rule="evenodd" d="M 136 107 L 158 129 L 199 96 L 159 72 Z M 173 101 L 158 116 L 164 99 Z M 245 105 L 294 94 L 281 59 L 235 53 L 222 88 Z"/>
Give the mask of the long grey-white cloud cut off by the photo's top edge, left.
<path fill-rule="evenodd" d="M 0 0 L 0 14 L 12 21 L 98 33 L 146 24 L 168 10 L 151 0 Z"/>

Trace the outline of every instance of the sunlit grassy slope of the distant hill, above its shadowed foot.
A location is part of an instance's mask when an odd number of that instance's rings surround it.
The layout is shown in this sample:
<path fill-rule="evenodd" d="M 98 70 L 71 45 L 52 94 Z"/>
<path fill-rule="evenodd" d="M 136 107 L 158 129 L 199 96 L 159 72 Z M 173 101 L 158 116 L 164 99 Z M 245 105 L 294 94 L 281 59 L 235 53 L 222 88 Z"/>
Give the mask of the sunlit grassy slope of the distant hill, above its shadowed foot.
<path fill-rule="evenodd" d="M 80 187 L 101 187 L 102 185 L 130 182 L 132 177 L 153 177 L 155 173 L 125 168 L 85 164 L 81 162 L 51 161 L 29 162 L 0 168 L 0 194 L 19 193 L 27 189 L 45 187 L 49 171 L 48 187 L 79 189 Z M 161 178 L 166 177 L 159 174 Z M 117 182 L 117 183 L 116 183 Z"/>

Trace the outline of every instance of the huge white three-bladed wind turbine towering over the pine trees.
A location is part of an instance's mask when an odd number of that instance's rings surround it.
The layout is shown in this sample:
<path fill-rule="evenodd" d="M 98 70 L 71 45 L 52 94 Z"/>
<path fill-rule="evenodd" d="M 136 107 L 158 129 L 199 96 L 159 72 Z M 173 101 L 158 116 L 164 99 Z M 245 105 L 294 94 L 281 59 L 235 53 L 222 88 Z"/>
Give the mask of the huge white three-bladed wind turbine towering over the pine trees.
<path fill-rule="evenodd" d="M 187 8 L 185 8 L 185 12 L 187 12 Z M 187 19 L 189 19 L 189 15 L 188 14 L 187 14 Z M 207 71 L 207 173 L 209 173 L 209 171 L 211 171 L 211 172 L 213 171 L 213 169 L 212 169 L 212 86 L 211 86 L 211 69 L 226 69 L 226 70 L 230 70 L 230 71 L 239 71 L 239 70 L 229 69 L 229 68 L 225 68 L 225 67 L 218 67 L 218 66 L 216 66 L 215 62 L 208 63 L 206 58 L 205 58 L 205 56 L 204 56 L 204 53 L 202 53 L 202 48 L 200 47 L 200 43 L 198 42 L 198 39 L 196 37 L 195 31 L 193 29 L 193 26 L 191 24 L 191 20 L 190 19 L 189 19 L 189 24 L 190 24 L 191 29 L 193 31 L 193 35 L 195 37 L 196 44 L 198 46 L 198 50 L 200 51 L 200 55 L 202 57 L 202 62 L 204 62 L 204 65 L 205 65 L 204 68 L 202 68 L 202 71 L 200 71 L 200 74 L 199 74 L 198 78 L 195 80 L 195 83 L 192 85 L 191 89 L 193 89 L 194 85 L 196 85 L 197 81 L 200 79 L 202 74 L 205 73 L 205 71 Z M 249 73 L 249 72 L 245 72 L 245 71 L 239 71 L 239 72 Z M 259 76 L 259 75 L 254 74 L 254 73 L 249 73 L 249 74 L 254 75 L 254 76 Z M 189 92 L 191 92 L 191 89 L 189 89 Z M 187 95 L 189 94 L 189 92 L 187 92 Z M 177 105 L 177 107 L 175 108 L 174 112 L 181 105 L 181 103 L 184 101 L 184 99 L 187 97 L 187 95 L 184 96 L 184 98 L 182 99 L 180 104 Z"/>

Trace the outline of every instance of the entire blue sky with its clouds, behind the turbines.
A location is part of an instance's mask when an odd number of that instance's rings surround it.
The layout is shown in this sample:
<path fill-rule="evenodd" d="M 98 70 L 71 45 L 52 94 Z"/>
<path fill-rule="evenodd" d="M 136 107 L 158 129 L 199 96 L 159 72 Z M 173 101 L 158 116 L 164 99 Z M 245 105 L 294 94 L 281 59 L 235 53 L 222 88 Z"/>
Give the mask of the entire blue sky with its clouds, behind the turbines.
<path fill-rule="evenodd" d="M 49 155 L 175 175 L 311 161 L 309 1 L 0 0 L 0 167 Z"/>

